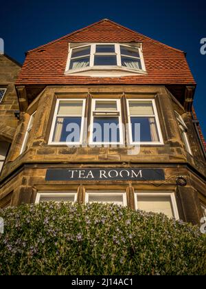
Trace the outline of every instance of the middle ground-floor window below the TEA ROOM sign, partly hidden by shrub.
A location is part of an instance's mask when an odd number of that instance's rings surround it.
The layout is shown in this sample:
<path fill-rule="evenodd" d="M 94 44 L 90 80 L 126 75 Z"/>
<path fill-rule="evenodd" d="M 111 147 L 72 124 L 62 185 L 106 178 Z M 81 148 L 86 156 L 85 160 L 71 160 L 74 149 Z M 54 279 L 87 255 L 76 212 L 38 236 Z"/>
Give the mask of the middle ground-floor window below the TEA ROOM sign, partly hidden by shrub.
<path fill-rule="evenodd" d="M 87 192 L 85 197 L 86 203 L 102 203 L 102 204 L 117 204 L 126 206 L 126 193 L 118 191 L 100 191 L 100 192 Z"/>

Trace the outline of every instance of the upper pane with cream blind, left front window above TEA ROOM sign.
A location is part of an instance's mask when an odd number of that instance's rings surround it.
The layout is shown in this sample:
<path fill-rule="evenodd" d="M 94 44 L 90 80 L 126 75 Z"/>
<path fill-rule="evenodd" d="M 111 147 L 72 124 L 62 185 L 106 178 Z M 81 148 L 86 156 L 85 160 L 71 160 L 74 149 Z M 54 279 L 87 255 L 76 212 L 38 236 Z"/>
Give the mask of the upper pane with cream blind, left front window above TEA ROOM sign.
<path fill-rule="evenodd" d="M 60 101 L 58 113 L 65 116 L 82 116 L 82 100 L 81 101 Z"/>

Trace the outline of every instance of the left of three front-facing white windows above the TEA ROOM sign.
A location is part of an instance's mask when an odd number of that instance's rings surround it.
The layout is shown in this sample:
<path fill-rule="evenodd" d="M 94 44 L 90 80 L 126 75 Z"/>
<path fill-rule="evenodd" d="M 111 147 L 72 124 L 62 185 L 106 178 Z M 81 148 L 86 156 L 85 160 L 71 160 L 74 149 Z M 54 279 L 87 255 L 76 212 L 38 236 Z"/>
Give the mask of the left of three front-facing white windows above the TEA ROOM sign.
<path fill-rule="evenodd" d="M 84 99 L 58 99 L 49 144 L 81 144 L 84 110 Z"/>

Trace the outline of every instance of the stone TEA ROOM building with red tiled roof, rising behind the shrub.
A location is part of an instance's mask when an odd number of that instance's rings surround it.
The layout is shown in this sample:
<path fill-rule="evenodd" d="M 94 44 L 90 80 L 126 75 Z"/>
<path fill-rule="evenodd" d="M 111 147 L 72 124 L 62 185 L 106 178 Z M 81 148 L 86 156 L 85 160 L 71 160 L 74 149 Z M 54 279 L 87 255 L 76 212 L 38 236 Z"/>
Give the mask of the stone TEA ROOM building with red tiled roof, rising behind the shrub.
<path fill-rule="evenodd" d="M 195 87 L 184 52 L 108 19 L 30 50 L 17 128 L 2 108 L 14 131 L 1 207 L 114 202 L 198 224 L 206 171 Z"/>

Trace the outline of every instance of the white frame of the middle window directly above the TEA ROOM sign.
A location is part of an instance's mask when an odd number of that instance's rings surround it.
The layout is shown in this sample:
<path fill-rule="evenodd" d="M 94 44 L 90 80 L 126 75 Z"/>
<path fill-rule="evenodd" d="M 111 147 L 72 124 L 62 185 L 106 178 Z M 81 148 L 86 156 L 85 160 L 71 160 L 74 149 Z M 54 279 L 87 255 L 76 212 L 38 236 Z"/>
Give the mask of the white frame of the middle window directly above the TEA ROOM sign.
<path fill-rule="evenodd" d="M 117 117 L 119 119 L 119 142 L 93 142 L 93 118 L 98 117 L 98 115 L 93 116 L 93 112 L 95 112 L 95 105 L 96 102 L 102 101 L 102 103 L 107 103 L 110 101 L 116 101 L 117 103 L 117 110 L 115 111 L 108 111 L 105 115 L 105 117 Z M 98 111 L 97 111 L 98 112 Z M 119 113 L 119 116 L 115 115 Z M 100 116 L 100 115 L 99 115 Z M 90 135 L 89 135 L 89 144 L 92 146 L 98 146 L 98 145 L 113 145 L 113 144 L 124 144 L 124 137 L 123 137 L 123 127 L 122 127 L 122 107 L 121 107 L 121 100 L 119 98 L 93 98 L 91 102 L 91 121 L 90 121 Z"/>

